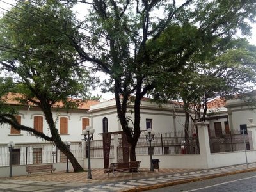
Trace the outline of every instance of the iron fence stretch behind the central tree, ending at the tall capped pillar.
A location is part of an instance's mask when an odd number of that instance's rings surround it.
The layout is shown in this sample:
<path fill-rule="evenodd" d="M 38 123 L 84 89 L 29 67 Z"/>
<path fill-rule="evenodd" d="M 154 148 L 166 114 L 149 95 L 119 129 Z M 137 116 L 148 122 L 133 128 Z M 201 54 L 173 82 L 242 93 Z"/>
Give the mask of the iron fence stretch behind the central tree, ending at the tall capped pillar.
<path fill-rule="evenodd" d="M 199 154 L 198 140 L 193 132 L 188 132 L 188 138 L 185 139 L 184 131 L 156 133 L 152 140 L 152 154 L 170 155 L 170 154 Z M 118 156 L 122 155 L 121 137 L 118 138 Z M 111 139 L 109 157 L 114 157 L 114 140 Z M 102 140 L 91 141 L 91 157 L 103 158 Z M 136 145 L 136 155 L 150 154 L 149 142 L 146 140 L 143 132 Z"/>

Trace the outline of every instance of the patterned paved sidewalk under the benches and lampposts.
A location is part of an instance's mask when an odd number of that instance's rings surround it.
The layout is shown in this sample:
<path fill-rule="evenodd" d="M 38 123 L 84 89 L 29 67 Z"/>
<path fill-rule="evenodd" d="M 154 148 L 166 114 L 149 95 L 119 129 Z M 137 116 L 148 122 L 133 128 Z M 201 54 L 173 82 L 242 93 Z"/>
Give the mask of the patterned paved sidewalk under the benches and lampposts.
<path fill-rule="evenodd" d="M 104 174 L 102 169 L 92 170 L 92 179 L 87 179 L 87 172 L 65 173 L 56 172 L 53 174 L 32 173 L 27 176 L 19 176 L 0 179 L 1 191 L 145 191 L 174 184 L 181 184 L 223 175 L 241 172 L 256 171 L 256 163 L 227 166 L 209 170 L 192 169 L 159 169 L 150 172 L 140 169 L 138 173 L 122 172 L 113 175 Z"/>

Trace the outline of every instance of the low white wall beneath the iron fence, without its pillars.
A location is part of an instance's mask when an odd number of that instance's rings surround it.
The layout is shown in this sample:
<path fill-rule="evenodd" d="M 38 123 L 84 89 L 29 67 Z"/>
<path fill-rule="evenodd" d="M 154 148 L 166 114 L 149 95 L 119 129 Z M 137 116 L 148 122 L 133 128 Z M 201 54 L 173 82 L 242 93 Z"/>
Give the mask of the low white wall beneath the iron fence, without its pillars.
<path fill-rule="evenodd" d="M 150 168 L 149 156 L 136 157 L 137 161 L 141 161 L 140 168 Z M 256 150 L 248 150 L 247 157 L 248 163 L 256 162 Z M 200 154 L 153 156 L 153 159 L 159 159 L 159 168 L 209 169 L 246 163 L 244 151 L 211 154 L 209 156 L 209 163 Z M 113 160 L 109 159 L 109 164 L 115 163 Z M 91 166 L 92 168 L 103 168 L 103 159 L 91 159 Z M 88 168 L 87 159 L 84 159 L 84 168 Z"/>

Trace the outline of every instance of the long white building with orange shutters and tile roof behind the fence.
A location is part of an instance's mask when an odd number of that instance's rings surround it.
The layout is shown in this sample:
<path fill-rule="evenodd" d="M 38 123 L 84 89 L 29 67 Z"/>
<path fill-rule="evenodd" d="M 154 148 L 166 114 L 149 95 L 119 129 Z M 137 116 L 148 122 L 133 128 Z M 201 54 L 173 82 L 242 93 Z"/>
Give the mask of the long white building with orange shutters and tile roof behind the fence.
<path fill-rule="evenodd" d="M 50 134 L 47 122 L 45 121 L 40 108 L 37 106 L 22 106 L 17 103 L 17 101 L 12 100 L 11 97 L 8 97 L 8 103 L 20 106 L 19 113 L 17 114 L 17 119 L 20 121 L 20 124 L 27 125 L 28 127 L 34 127 L 34 129 L 41 130 L 47 135 Z M 209 130 L 213 130 L 210 132 L 210 137 L 227 135 L 230 130 L 239 129 L 239 125 L 248 124 L 248 118 L 256 120 L 255 108 L 248 106 L 242 100 L 227 100 L 225 107 L 223 107 L 223 104 L 223 102 L 220 103 L 218 110 L 212 108 L 209 110 L 209 114 L 211 114 L 207 117 L 209 121 Z M 127 116 L 131 115 L 131 120 L 133 115 L 132 110 L 133 108 L 131 104 L 127 108 Z M 90 125 L 95 129 L 93 141 L 95 144 L 92 145 L 92 148 L 95 148 L 92 156 L 95 158 L 93 159 L 95 163 L 92 164 L 92 166 L 102 168 L 102 133 L 122 131 L 122 127 L 120 126 L 117 118 L 115 100 L 108 100 L 106 102 L 89 101 L 77 109 L 70 109 L 68 113 L 64 109 L 60 108 L 53 108 L 52 112 L 56 119 L 56 126 L 59 127 L 61 139 L 63 141 L 71 141 L 72 145 L 70 146 L 70 150 L 81 162 L 85 157 L 84 143 L 81 142 L 84 140 L 84 136 L 81 132 L 87 125 Z M 175 103 L 158 106 L 157 104 L 148 102 L 147 99 L 143 99 L 141 101 L 141 130 L 152 128 L 158 133 L 183 132 L 184 117 L 184 111 L 182 108 L 177 108 L 177 104 Z M 15 147 L 16 155 L 14 156 L 16 164 L 25 165 L 65 162 L 65 156 L 61 154 L 54 144 L 48 143 L 40 138 L 36 138 L 35 135 L 28 134 L 28 132 L 16 131 L 8 124 L 1 126 L 0 137 L 0 166 L 8 166 L 9 152 L 6 146 L 10 141 L 17 143 Z M 114 137 L 115 136 L 112 136 L 111 143 L 115 140 Z M 142 139 L 145 140 L 144 138 Z M 175 148 L 174 151 L 177 152 L 178 149 L 178 154 L 181 153 L 180 146 L 182 145 L 183 140 L 184 139 L 180 138 L 178 143 L 175 143 L 177 148 Z M 168 142 L 171 142 L 168 138 L 163 139 L 163 141 L 167 144 Z M 144 143 L 142 144 L 140 142 L 140 145 L 142 147 L 147 147 L 148 142 L 143 142 Z M 171 157 L 173 154 L 172 147 L 167 144 L 165 145 L 162 143 L 162 146 L 160 146 L 159 143 L 154 143 L 154 155 L 165 155 L 164 158 Z M 147 150 L 143 150 L 141 149 L 141 146 L 138 146 L 138 150 L 140 150 L 138 151 L 138 159 L 147 159 L 148 147 Z M 252 146 L 250 146 L 250 149 L 252 149 Z M 118 150 L 118 148 L 115 148 L 115 146 L 111 147 L 110 162 L 114 162 L 117 159 L 115 156 L 115 150 Z M 216 152 L 227 152 L 228 150 L 229 149 L 227 149 L 227 147 L 220 147 Z M 140 155 L 140 152 L 144 153 L 144 155 Z M 146 161 L 143 160 L 143 162 Z M 179 161 L 177 160 L 177 162 Z M 144 166 L 145 164 L 147 165 L 147 163 L 144 163 Z M 83 165 L 86 166 L 85 164 Z M 199 165 L 200 163 L 198 166 Z M 141 166 L 143 166 L 143 163 Z M 173 165 L 171 166 L 166 164 L 164 166 L 166 168 L 171 168 Z M 180 164 L 179 166 L 186 167 Z"/>

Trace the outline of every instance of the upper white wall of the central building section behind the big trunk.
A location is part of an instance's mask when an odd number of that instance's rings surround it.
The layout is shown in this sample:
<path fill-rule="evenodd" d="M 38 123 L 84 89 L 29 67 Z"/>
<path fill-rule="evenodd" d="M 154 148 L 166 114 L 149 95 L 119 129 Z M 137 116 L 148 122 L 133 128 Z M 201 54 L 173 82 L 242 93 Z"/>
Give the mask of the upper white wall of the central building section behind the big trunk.
<path fill-rule="evenodd" d="M 174 121 L 176 124 L 176 131 L 184 130 L 184 113 L 179 110 L 173 113 L 173 104 L 166 104 L 159 107 L 157 104 L 151 102 L 141 102 L 140 109 L 140 127 L 141 130 L 146 129 L 146 119 L 152 119 L 152 128 L 156 132 L 172 132 L 174 130 Z M 102 120 L 104 117 L 108 118 L 108 132 L 122 131 L 118 116 L 116 113 L 115 100 L 102 102 L 98 105 L 92 106 L 88 111 L 92 118 L 92 126 L 95 129 L 95 139 L 102 139 L 99 133 L 102 133 Z M 173 115 L 176 118 L 173 118 Z M 127 117 L 134 122 L 134 109 L 132 106 L 127 108 Z M 129 122 L 132 127 L 132 122 Z"/>

